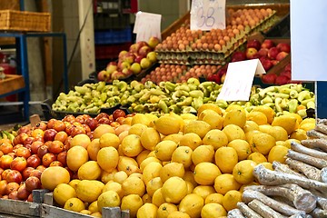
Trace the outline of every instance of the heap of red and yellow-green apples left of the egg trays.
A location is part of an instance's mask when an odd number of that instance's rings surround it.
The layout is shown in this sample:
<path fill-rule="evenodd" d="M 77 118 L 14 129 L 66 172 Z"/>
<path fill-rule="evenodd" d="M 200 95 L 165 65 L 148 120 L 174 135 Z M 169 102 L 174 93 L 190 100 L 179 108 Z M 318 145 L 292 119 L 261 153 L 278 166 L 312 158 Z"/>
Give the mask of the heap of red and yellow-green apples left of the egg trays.
<path fill-rule="evenodd" d="M 156 63 L 154 47 L 160 43 L 157 37 L 151 37 L 148 42 L 140 41 L 118 54 L 118 61 L 110 62 L 97 75 L 99 81 L 111 82 L 115 79 L 125 79 L 133 74 L 140 74 Z"/>

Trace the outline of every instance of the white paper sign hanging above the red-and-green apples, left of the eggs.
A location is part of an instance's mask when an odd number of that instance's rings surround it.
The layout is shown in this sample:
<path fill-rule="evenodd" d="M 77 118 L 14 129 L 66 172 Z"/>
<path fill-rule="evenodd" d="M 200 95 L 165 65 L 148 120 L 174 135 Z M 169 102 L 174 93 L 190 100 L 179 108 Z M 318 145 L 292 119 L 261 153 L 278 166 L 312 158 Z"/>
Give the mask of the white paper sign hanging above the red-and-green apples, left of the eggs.
<path fill-rule="evenodd" d="M 162 15 L 138 12 L 133 30 L 136 34 L 136 42 L 147 42 L 152 36 L 161 40 L 161 20 Z"/>

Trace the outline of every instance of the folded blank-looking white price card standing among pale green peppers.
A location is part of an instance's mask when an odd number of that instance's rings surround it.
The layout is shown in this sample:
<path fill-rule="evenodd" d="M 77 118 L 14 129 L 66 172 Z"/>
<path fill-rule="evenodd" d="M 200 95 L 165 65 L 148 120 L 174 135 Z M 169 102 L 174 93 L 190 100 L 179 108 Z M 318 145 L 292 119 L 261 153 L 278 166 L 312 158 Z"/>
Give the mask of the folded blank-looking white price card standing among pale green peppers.
<path fill-rule="evenodd" d="M 259 59 L 229 63 L 217 100 L 249 101 L 254 74 L 265 74 Z"/>

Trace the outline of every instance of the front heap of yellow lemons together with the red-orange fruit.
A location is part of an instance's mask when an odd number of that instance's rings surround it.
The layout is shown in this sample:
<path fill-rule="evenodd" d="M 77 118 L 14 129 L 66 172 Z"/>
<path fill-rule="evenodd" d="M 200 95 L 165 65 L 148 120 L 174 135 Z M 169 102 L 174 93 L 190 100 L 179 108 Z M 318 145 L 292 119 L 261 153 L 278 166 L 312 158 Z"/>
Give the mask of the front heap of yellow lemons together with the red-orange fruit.
<path fill-rule="evenodd" d="M 30 185 L 54 191 L 64 209 L 95 217 L 114 206 L 139 218 L 226 216 L 242 201 L 244 187 L 256 184 L 254 167 L 284 163 L 291 143 L 300 144 L 315 127 L 312 118 L 275 117 L 263 105 L 254 112 L 249 120 L 241 105 L 202 104 L 197 116 L 117 111 L 25 126 L 13 142 L 1 141 L 0 192 L 25 200 L 18 197 L 24 191 L 31 201 L 27 181 L 33 178 Z M 99 124 L 105 116 L 112 122 Z M 37 162 L 26 167 L 33 155 Z M 25 179 L 15 181 L 14 174 Z"/>

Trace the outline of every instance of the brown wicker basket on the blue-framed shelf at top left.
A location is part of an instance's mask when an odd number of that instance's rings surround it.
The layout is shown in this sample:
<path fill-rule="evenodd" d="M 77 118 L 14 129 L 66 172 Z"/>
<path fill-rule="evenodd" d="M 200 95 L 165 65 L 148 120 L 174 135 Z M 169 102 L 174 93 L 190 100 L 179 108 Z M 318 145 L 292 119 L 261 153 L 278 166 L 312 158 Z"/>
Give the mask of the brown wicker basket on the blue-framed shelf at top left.
<path fill-rule="evenodd" d="M 49 32 L 50 29 L 50 13 L 37 13 L 15 10 L 0 11 L 0 30 Z"/>

